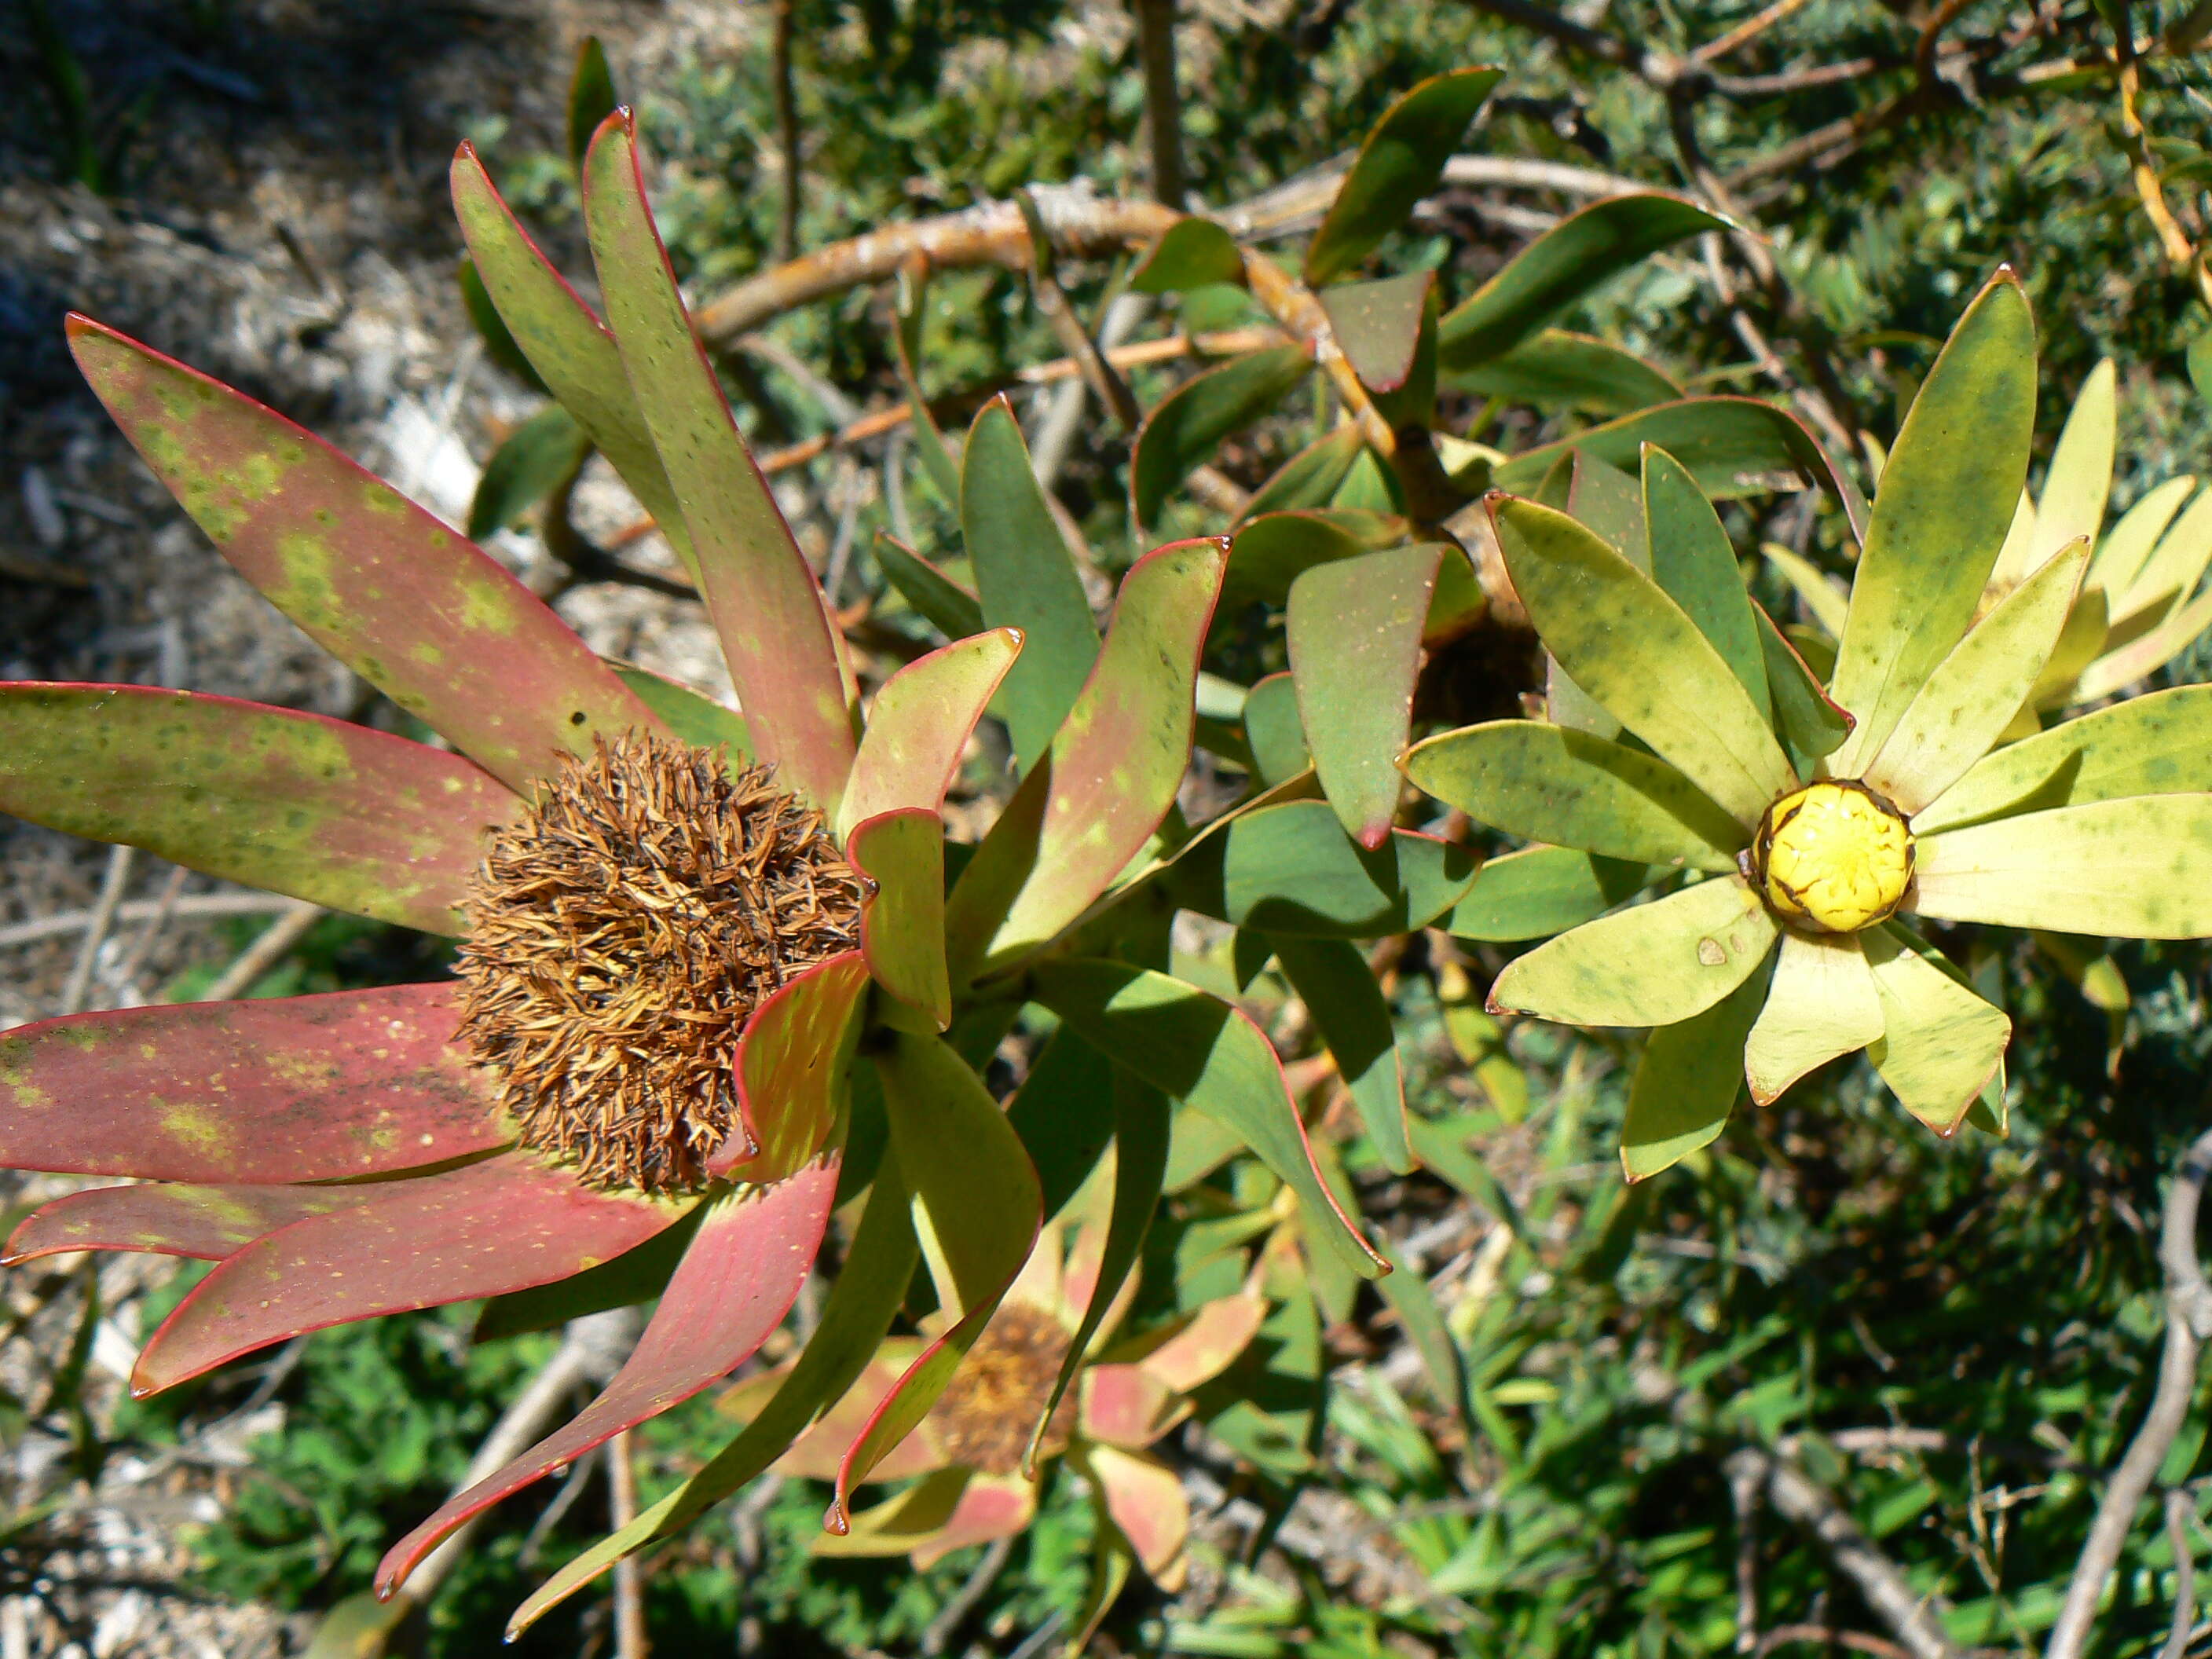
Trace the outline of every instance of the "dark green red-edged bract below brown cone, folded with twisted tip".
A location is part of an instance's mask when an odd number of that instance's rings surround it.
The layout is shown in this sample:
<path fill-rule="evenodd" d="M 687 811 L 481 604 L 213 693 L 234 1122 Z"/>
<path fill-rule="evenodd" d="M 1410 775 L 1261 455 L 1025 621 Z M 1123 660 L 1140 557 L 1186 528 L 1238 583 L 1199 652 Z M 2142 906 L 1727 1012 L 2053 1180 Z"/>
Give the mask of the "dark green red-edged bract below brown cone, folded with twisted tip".
<path fill-rule="evenodd" d="M 852 1491 L 938 1402 L 982 1336 L 1044 1225 L 1037 1170 L 989 1091 L 940 1037 L 887 1033 L 876 1055 L 891 1150 L 916 1199 L 916 1234 L 951 1329 L 929 1343 L 845 1453 L 827 1526 L 843 1533 Z"/>

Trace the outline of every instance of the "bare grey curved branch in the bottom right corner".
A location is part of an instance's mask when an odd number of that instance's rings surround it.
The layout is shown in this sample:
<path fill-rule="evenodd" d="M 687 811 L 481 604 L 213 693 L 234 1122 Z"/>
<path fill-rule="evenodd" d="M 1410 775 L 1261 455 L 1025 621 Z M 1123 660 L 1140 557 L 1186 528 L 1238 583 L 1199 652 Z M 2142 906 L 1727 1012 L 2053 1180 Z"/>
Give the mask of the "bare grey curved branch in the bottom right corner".
<path fill-rule="evenodd" d="M 2159 1225 L 2159 1267 L 2166 1272 L 2166 1349 L 2159 1356 L 2159 1383 L 2150 1396 L 2143 1427 L 2135 1431 L 2128 1453 L 2112 1471 L 2112 1484 L 2097 1504 L 2088 1544 L 2066 1584 L 2066 1601 L 2051 1626 L 2044 1659 L 2079 1659 L 2097 1621 L 2104 1586 L 2119 1566 L 2119 1553 L 2135 1526 L 2135 1511 L 2157 1480 L 2159 1464 L 2188 1420 L 2197 1396 L 2197 1356 L 2212 1336 L 2212 1285 L 2197 1259 L 2197 1208 L 2203 1201 L 2205 1177 L 2212 1175 L 2212 1130 L 2205 1130 L 2181 1159 L 2174 1183 L 2166 1190 L 2166 1219 Z"/>

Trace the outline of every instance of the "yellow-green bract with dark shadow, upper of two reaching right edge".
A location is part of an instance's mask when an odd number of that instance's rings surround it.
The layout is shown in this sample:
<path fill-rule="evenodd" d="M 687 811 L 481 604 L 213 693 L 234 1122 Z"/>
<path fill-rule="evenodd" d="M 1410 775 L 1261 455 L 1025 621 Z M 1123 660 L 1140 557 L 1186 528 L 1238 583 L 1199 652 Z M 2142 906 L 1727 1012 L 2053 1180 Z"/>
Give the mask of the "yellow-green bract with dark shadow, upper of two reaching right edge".
<path fill-rule="evenodd" d="M 1913 818 L 1913 832 L 1929 836 L 1980 818 L 2199 790 L 2212 790 L 2212 686 L 2177 686 L 1982 757 Z"/>

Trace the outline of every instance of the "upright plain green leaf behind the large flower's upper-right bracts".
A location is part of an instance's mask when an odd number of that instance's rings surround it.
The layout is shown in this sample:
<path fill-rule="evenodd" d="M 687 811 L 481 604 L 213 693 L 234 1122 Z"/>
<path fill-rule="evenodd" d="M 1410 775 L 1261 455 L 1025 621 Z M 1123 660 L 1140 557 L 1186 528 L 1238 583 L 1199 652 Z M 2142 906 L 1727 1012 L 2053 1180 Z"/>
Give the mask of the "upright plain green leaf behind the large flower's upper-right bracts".
<path fill-rule="evenodd" d="M 998 706 L 1015 768 L 1026 774 L 1075 706 L 1099 655 L 1099 628 L 1004 398 L 982 407 L 962 451 L 960 533 L 984 624 L 1022 630 Z"/>

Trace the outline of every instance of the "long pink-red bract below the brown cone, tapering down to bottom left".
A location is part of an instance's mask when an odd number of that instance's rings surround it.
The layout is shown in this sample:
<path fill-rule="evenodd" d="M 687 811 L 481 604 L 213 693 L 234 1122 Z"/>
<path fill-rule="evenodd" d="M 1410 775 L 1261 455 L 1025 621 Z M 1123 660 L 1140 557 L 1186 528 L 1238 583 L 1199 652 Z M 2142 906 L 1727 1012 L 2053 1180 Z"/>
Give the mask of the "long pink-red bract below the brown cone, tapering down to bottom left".
<path fill-rule="evenodd" d="M 774 1186 L 748 1186 L 714 1199 L 615 1380 L 566 1429 L 458 1493 L 394 1544 L 376 1568 L 378 1593 L 396 1590 L 438 1540 L 469 1515 L 688 1400 L 750 1360 L 783 1323 L 814 1270 L 814 1252 L 821 1250 L 836 1199 L 836 1177 L 838 1157 L 830 1155 Z"/>

